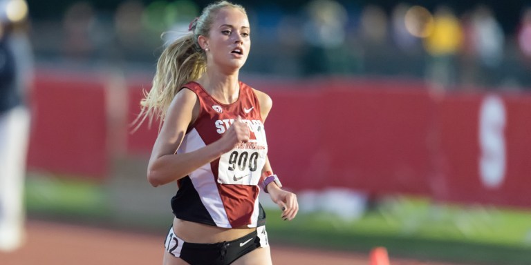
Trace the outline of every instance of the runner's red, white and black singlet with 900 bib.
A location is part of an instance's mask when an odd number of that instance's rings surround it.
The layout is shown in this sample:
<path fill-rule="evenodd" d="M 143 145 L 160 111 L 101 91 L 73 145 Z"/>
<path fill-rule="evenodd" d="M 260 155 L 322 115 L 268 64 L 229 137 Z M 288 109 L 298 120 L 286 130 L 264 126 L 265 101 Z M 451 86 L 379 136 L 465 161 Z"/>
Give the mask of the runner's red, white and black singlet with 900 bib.
<path fill-rule="evenodd" d="M 250 86 L 239 85 L 239 98 L 232 104 L 221 104 L 196 82 L 183 88 L 196 93 L 201 110 L 177 153 L 189 153 L 217 141 L 238 116 L 248 124 L 250 140 L 178 180 L 179 190 L 171 199 L 171 208 L 179 219 L 224 228 L 257 227 L 265 222 L 257 185 L 268 144 L 259 101 Z"/>

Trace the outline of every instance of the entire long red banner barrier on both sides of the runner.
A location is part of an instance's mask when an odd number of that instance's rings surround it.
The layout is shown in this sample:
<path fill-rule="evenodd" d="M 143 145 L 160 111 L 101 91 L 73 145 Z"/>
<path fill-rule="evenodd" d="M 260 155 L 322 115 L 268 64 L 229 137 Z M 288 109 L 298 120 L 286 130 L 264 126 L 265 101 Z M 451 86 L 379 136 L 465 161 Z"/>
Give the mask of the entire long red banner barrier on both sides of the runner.
<path fill-rule="evenodd" d="M 109 120 L 120 118 L 108 117 L 114 105 L 104 83 L 38 76 L 30 168 L 103 178 L 115 148 L 109 139 L 124 139 L 129 155 L 149 157 L 158 121 L 133 134 L 114 131 L 120 126 Z M 127 84 L 122 119 L 131 124 L 149 80 Z M 357 79 L 248 84 L 273 99 L 265 122 L 269 157 L 293 190 L 348 187 L 531 207 L 529 94 L 432 97 L 416 82 Z"/>

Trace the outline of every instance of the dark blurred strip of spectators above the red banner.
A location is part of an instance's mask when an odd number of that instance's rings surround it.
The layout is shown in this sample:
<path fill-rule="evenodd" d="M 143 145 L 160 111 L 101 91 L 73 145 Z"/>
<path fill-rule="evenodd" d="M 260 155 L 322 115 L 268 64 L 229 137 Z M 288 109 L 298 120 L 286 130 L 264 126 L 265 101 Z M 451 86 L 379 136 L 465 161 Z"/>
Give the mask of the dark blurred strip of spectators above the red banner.
<path fill-rule="evenodd" d="M 209 1 L 28 1 L 37 62 L 152 71 L 163 41 Z M 526 1 L 241 1 L 244 70 L 260 77 L 432 79 L 448 88 L 530 86 Z M 161 40 L 162 32 L 171 32 Z M 404 63 L 407 62 L 407 63 Z"/>

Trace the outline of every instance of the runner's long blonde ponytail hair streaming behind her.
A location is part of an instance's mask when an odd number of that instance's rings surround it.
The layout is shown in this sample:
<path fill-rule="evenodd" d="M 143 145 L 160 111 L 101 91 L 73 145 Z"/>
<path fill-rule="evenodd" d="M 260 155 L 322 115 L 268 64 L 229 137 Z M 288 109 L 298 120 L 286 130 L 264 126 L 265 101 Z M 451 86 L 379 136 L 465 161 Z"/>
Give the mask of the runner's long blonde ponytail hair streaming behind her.
<path fill-rule="evenodd" d="M 145 119 L 149 119 L 151 126 L 154 118 L 159 120 L 160 128 L 169 104 L 177 92 L 189 81 L 196 81 L 203 75 L 207 68 L 207 57 L 197 39 L 200 35 L 209 37 L 215 15 L 227 7 L 237 8 L 247 14 L 243 6 L 228 1 L 211 3 L 203 9 L 200 17 L 190 23 L 190 32 L 170 43 L 162 51 L 151 90 L 144 90 L 144 98 L 140 101 L 141 111 L 133 121 L 133 124 L 136 124 L 134 130 L 138 129 Z"/>

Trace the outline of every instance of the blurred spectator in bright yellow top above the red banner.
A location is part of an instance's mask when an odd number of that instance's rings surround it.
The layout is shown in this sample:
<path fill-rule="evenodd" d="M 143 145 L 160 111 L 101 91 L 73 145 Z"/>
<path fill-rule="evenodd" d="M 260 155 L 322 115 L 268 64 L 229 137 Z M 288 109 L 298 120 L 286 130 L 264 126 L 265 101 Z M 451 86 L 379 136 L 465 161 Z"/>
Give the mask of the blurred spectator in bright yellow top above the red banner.
<path fill-rule="evenodd" d="M 432 88 L 454 88 L 456 55 L 462 43 L 463 29 L 458 18 L 447 6 L 438 7 L 433 28 L 424 39 L 425 49 L 430 55 L 426 75 Z"/>

